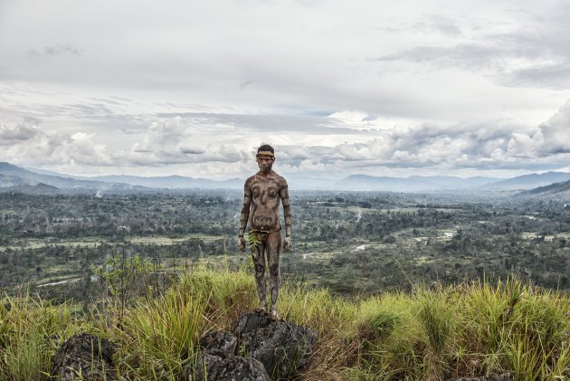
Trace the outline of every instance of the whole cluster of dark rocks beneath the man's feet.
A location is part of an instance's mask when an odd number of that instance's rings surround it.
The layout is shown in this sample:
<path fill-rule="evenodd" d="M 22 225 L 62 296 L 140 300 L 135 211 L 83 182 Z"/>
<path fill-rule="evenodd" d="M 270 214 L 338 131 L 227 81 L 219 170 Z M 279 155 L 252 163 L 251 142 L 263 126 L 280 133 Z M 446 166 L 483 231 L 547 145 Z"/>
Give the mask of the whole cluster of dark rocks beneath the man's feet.
<path fill-rule="evenodd" d="M 289 379 L 309 364 L 316 341 L 315 329 L 272 321 L 265 312 L 246 312 L 237 319 L 233 334 L 216 331 L 200 339 L 202 357 L 194 367 L 185 368 L 185 377 L 195 381 Z"/>

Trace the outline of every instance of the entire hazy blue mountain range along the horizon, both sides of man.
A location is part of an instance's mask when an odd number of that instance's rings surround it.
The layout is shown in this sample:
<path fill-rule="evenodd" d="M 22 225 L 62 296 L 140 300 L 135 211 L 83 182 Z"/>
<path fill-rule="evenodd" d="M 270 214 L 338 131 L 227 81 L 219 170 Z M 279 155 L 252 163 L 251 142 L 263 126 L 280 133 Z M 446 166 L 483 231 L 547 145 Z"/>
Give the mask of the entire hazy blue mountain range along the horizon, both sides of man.
<path fill-rule="evenodd" d="M 159 189 L 242 189 L 244 179 L 232 178 L 217 181 L 186 176 L 71 176 L 42 169 L 17 167 L 0 163 L 0 192 L 24 193 L 128 193 L 154 192 Z M 570 181 L 570 173 L 547 172 L 503 179 L 495 177 L 457 176 L 367 176 L 352 175 L 342 179 L 320 179 L 317 176 L 288 176 L 293 189 L 390 191 L 390 192 L 442 192 L 442 191 L 528 191 L 524 195 L 555 192 L 555 183 Z M 537 190 L 537 187 L 546 189 Z M 532 193 L 535 192 L 535 193 Z M 560 193 L 562 192 L 562 193 Z M 559 191 L 564 195 L 565 191 Z"/>

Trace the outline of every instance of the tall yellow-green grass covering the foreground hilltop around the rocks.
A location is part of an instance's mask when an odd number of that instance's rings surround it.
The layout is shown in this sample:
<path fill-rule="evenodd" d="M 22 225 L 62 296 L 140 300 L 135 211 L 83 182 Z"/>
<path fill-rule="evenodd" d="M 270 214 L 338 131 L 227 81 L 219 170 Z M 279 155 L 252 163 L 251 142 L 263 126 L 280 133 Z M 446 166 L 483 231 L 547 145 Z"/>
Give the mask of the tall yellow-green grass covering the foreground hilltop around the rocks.
<path fill-rule="evenodd" d="M 5 306 L 10 304 L 9 308 Z M 0 379 L 38 379 L 56 348 L 90 331 L 119 345 L 120 375 L 178 380 L 194 364 L 204 332 L 231 329 L 257 306 L 248 271 L 183 274 L 157 298 L 81 319 L 70 304 L 27 294 L 0 303 Z M 416 286 L 342 299 L 326 290 L 286 283 L 280 316 L 318 329 L 302 380 L 442 380 L 509 372 L 517 380 L 570 377 L 570 299 L 517 280 Z"/>

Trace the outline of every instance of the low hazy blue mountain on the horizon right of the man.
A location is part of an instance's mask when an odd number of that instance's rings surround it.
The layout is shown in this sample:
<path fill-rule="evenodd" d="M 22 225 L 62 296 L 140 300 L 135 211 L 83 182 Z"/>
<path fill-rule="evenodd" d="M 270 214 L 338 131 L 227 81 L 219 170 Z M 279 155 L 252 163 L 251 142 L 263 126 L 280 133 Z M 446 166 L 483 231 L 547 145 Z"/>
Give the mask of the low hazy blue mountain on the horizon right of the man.
<path fill-rule="evenodd" d="M 493 177 L 456 176 L 367 176 L 352 175 L 337 181 L 335 187 L 343 190 L 383 190 L 390 192 L 426 192 L 442 190 L 473 189 L 500 181 Z"/>

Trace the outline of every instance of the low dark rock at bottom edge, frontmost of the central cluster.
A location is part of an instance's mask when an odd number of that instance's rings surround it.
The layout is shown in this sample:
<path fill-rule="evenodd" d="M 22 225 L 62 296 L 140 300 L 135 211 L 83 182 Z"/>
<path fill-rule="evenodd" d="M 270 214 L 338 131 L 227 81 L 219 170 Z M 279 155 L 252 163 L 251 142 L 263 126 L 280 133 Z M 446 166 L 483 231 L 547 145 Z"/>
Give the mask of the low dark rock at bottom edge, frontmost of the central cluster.
<path fill-rule="evenodd" d="M 185 379 L 193 381 L 271 381 L 263 364 L 255 358 L 218 357 L 205 353 L 194 371 L 185 368 Z"/>

